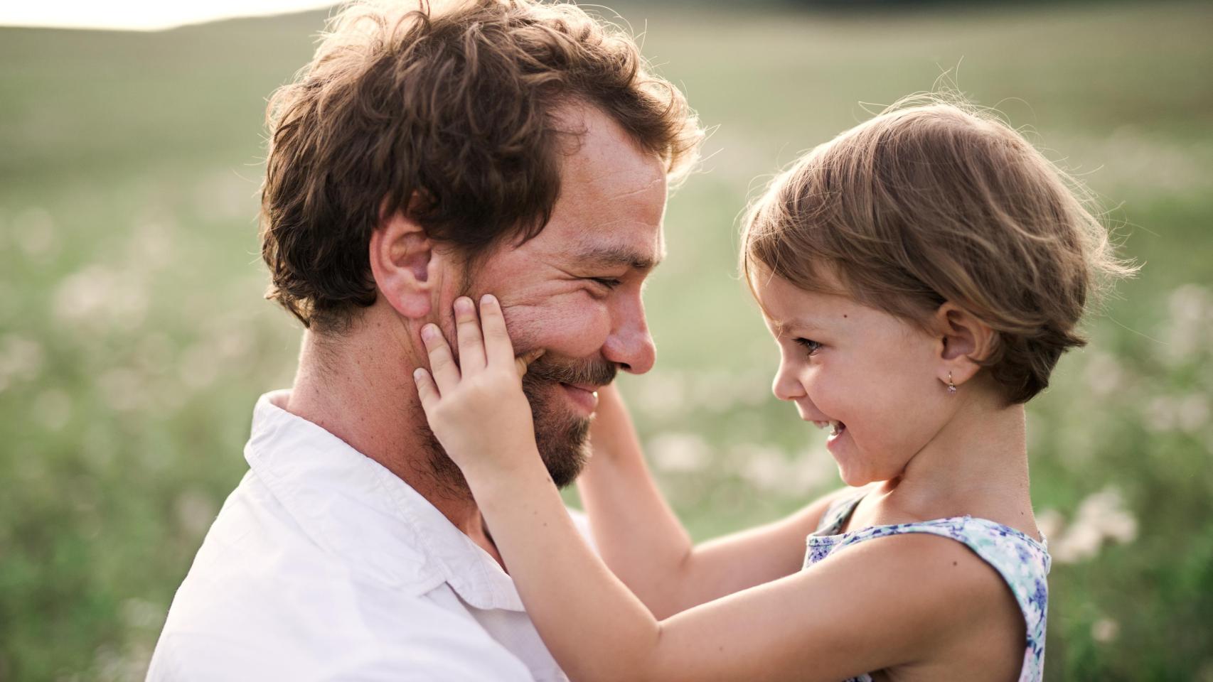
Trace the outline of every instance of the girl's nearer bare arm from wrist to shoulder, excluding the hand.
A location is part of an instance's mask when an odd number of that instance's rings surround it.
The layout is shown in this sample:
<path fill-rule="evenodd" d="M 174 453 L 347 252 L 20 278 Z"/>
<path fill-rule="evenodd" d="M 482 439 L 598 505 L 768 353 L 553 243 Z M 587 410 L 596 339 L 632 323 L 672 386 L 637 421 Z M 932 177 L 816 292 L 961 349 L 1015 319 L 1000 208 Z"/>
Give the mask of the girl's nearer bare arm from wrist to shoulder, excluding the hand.
<path fill-rule="evenodd" d="M 1006 591 L 959 543 L 900 535 L 659 620 L 582 541 L 540 458 L 519 459 L 529 465 L 485 466 L 468 483 L 570 680 L 838 682 L 929 666 Z"/>

